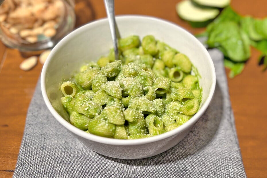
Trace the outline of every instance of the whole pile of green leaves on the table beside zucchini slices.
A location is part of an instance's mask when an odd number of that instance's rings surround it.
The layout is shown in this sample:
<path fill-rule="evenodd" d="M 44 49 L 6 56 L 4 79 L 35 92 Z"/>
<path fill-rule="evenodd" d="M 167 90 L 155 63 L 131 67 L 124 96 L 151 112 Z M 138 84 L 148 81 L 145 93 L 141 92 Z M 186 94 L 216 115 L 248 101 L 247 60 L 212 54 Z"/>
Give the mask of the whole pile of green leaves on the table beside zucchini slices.
<path fill-rule="evenodd" d="M 199 7 L 204 8 L 204 7 Z M 241 73 L 244 62 L 251 56 L 250 45 L 262 52 L 259 65 L 267 69 L 267 18 L 256 19 L 251 16 L 242 17 L 230 6 L 225 7 L 206 31 L 196 37 L 206 37 L 205 44 L 209 48 L 217 48 L 224 54 L 225 67 L 231 71 L 229 77 Z"/>

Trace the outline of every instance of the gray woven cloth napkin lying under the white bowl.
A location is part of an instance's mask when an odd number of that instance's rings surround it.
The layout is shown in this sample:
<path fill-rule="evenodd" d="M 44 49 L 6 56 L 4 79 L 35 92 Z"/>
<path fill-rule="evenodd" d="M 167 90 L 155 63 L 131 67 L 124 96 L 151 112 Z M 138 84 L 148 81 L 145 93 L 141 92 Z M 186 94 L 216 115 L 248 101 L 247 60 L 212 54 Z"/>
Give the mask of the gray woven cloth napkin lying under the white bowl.
<path fill-rule="evenodd" d="M 223 56 L 209 52 L 217 84 L 206 113 L 179 144 L 145 159 L 121 160 L 89 150 L 53 118 L 38 82 L 13 177 L 246 177 Z"/>

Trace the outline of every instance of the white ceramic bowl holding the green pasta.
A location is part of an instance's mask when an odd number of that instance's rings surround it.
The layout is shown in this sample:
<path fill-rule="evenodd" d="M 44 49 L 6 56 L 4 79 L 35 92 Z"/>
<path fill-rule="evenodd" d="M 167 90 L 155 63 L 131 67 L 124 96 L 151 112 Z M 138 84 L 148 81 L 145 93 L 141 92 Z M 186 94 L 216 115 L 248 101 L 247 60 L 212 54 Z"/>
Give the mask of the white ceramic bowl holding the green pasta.
<path fill-rule="evenodd" d="M 121 37 L 136 34 L 142 39 L 151 34 L 189 57 L 202 76 L 200 86 L 203 88 L 203 98 L 198 113 L 172 131 L 137 140 L 117 140 L 88 134 L 67 122 L 68 115 L 60 102 L 60 83 L 62 79 L 70 78 L 85 61 L 96 61 L 112 48 L 107 19 L 74 30 L 54 47 L 42 69 L 42 95 L 57 121 L 91 150 L 114 158 L 146 158 L 180 142 L 203 115 L 214 93 L 215 69 L 204 46 L 192 34 L 173 23 L 147 16 L 118 16 L 116 20 Z"/>

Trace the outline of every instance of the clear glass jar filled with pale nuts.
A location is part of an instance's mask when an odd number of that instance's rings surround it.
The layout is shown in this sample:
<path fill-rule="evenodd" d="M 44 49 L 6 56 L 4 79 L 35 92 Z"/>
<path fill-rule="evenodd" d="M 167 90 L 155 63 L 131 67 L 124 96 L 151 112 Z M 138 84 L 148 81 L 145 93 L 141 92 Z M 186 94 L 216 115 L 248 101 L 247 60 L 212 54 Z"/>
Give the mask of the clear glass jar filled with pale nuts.
<path fill-rule="evenodd" d="M 0 4 L 0 38 L 20 51 L 54 47 L 75 25 L 74 0 L 0 0 Z"/>

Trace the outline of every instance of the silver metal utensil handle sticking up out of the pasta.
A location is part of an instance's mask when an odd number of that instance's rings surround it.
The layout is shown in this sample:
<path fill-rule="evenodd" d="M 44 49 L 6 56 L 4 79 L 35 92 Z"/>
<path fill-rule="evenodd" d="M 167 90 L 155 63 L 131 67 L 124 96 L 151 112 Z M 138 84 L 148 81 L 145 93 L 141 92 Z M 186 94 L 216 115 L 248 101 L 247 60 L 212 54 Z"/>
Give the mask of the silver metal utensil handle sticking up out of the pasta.
<path fill-rule="evenodd" d="M 107 12 L 108 20 L 109 20 L 111 38 L 113 40 L 115 59 L 119 60 L 117 39 L 120 38 L 120 36 L 119 36 L 119 30 L 118 30 L 118 27 L 115 21 L 115 15 L 114 15 L 114 0 L 104 0 L 104 2 L 105 2 L 106 12 Z"/>

